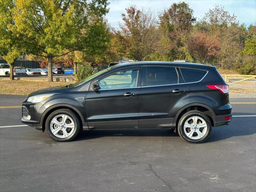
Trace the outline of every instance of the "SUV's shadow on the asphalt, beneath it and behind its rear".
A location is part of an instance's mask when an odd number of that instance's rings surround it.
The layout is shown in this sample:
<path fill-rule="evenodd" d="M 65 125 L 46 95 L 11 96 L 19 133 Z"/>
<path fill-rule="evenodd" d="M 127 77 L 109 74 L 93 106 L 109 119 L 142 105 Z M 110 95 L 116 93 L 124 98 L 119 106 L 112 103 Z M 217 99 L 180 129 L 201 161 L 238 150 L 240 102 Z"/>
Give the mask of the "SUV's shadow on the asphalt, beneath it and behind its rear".
<path fill-rule="evenodd" d="M 237 115 L 237 114 L 235 114 Z M 239 113 L 239 115 L 248 115 Z M 250 115 L 250 114 L 249 114 Z M 212 132 L 205 143 L 216 142 L 237 136 L 246 136 L 256 133 L 255 117 L 234 117 L 229 125 L 212 127 Z M 178 137 L 179 134 L 169 129 L 148 129 L 148 130 L 84 130 L 75 139 L 90 140 L 101 137 Z"/>

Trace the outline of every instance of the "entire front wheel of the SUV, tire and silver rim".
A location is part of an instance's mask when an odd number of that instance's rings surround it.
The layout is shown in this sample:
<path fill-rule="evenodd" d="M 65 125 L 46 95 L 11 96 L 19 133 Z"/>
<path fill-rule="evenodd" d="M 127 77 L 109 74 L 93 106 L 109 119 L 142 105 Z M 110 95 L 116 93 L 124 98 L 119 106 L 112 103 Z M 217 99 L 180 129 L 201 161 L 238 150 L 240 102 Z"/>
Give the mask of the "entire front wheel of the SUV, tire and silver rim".
<path fill-rule="evenodd" d="M 53 140 L 68 142 L 73 140 L 80 132 L 80 119 L 69 109 L 58 109 L 46 119 L 45 130 Z"/>

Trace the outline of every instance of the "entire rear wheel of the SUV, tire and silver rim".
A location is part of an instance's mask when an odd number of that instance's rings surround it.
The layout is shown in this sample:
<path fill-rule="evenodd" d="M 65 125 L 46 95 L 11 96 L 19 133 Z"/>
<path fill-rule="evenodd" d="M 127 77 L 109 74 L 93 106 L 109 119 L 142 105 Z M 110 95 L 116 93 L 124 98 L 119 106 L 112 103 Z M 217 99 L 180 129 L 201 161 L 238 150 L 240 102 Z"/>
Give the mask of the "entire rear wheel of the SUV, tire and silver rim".
<path fill-rule="evenodd" d="M 178 122 L 180 137 L 190 143 L 204 142 L 210 136 L 211 130 L 212 125 L 209 117 L 197 110 L 186 112 Z"/>

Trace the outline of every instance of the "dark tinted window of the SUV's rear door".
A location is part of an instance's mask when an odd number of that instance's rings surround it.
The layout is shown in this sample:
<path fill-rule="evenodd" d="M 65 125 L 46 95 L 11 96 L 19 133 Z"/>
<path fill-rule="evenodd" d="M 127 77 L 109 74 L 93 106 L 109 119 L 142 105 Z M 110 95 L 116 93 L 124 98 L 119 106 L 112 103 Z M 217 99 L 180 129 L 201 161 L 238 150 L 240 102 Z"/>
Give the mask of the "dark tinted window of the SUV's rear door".
<path fill-rule="evenodd" d="M 174 67 L 147 67 L 146 71 L 146 86 L 178 83 L 178 75 Z"/>

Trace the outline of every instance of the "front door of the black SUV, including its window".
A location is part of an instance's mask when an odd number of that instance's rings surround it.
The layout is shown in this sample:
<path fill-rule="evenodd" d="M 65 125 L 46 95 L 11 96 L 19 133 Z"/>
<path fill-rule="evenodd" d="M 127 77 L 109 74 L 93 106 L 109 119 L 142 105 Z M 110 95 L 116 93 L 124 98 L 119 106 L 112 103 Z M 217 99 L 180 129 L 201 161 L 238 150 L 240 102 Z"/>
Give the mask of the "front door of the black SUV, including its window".
<path fill-rule="evenodd" d="M 91 82 L 86 95 L 89 129 L 138 128 L 141 67 L 115 70 Z M 99 90 L 93 90 L 98 83 Z"/>

